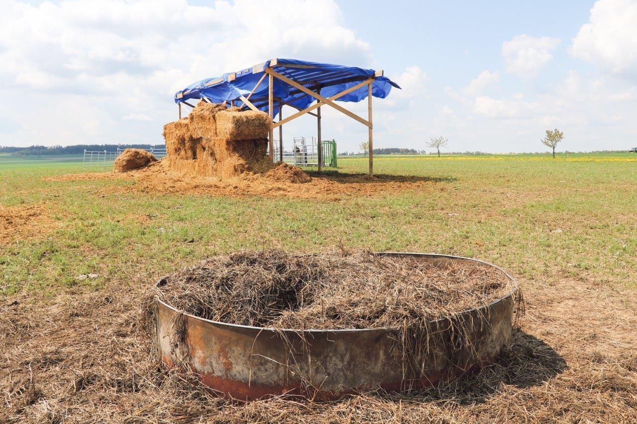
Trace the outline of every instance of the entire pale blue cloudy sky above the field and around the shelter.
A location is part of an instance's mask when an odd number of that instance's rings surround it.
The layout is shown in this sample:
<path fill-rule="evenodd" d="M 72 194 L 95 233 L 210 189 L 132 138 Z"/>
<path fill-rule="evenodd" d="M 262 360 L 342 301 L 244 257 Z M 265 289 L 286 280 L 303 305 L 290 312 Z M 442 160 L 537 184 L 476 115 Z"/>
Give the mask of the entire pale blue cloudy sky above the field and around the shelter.
<path fill-rule="evenodd" d="M 162 143 L 172 94 L 273 57 L 384 69 L 375 146 L 535 152 L 637 145 L 637 0 L 0 0 L 0 145 Z M 364 113 L 366 105 L 347 104 Z M 329 108 L 328 108 L 329 109 Z M 324 111 L 324 138 L 366 129 Z M 315 135 L 303 117 L 284 138 Z"/>

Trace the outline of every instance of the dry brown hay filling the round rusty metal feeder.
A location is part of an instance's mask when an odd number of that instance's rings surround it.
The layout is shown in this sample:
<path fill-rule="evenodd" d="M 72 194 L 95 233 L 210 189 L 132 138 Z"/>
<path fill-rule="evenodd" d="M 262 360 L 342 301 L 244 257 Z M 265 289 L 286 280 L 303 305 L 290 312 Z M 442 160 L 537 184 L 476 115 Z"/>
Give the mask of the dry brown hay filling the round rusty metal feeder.
<path fill-rule="evenodd" d="M 512 292 L 480 264 L 436 267 L 369 251 L 245 251 L 178 271 L 162 300 L 201 318 L 287 329 L 420 328 Z"/>

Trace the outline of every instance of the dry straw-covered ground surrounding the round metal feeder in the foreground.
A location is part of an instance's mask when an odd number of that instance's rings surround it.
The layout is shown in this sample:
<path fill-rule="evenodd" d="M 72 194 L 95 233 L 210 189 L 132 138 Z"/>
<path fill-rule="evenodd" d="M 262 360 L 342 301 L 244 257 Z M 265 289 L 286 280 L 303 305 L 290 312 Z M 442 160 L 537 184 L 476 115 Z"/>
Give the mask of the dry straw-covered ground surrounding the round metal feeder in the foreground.
<path fill-rule="evenodd" d="M 589 281 L 522 281 L 510 355 L 408 395 L 231 404 L 150 356 L 140 304 L 151 281 L 54 299 L 0 299 L 0 417 L 9 423 L 612 422 L 637 416 L 637 294 Z"/>

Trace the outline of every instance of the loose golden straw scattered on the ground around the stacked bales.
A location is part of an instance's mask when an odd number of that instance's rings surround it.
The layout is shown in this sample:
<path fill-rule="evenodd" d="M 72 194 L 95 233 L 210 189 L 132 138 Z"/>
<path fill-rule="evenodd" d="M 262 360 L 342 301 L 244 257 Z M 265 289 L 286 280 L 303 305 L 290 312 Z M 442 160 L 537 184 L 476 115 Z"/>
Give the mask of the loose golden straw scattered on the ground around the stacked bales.
<path fill-rule="evenodd" d="M 435 183 L 443 178 L 366 174 L 322 174 L 310 176 L 302 169 L 280 164 L 261 175 L 220 180 L 215 177 L 172 171 L 165 159 L 125 174 L 83 173 L 46 178 L 47 181 L 128 180 L 130 185 L 109 187 L 108 192 L 210 195 L 230 197 L 292 197 L 338 201 L 343 197 L 383 195 L 404 190 L 444 190 Z"/>

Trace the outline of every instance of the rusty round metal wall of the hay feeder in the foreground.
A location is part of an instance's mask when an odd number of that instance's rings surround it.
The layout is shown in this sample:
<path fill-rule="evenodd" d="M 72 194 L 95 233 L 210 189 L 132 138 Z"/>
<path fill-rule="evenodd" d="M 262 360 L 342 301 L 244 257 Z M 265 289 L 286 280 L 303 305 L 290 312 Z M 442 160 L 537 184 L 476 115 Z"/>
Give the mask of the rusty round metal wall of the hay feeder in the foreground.
<path fill-rule="evenodd" d="M 383 254 L 419 257 L 439 266 L 455 261 L 486 264 L 447 255 Z M 330 400 L 378 388 L 401 391 L 431 386 L 497 360 L 512 336 L 516 291 L 459 314 L 455 320 L 461 326 L 447 318 L 430 322 L 428 350 L 421 356 L 423 372 L 417 378 L 404 364 L 392 329 L 262 329 L 185 314 L 188 355 L 183 360 L 204 385 L 240 400 L 285 394 Z M 158 346 L 164 362 L 172 365 L 176 354 L 171 351 L 170 335 L 178 311 L 158 302 Z"/>

